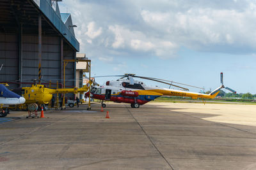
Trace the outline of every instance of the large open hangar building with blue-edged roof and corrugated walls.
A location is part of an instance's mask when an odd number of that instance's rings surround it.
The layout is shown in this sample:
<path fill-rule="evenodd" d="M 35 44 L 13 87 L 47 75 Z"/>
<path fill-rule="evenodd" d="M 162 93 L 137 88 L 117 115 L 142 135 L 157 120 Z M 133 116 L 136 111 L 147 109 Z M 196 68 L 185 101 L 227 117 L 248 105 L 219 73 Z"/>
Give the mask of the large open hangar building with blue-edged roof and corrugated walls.
<path fill-rule="evenodd" d="M 76 25 L 69 13 L 60 13 L 58 1 L 0 0 L 1 82 L 13 82 L 10 86 L 16 88 L 38 74 L 42 83 L 63 80 L 63 59 L 75 59 L 79 43 Z M 76 63 L 69 63 L 65 72 L 66 80 L 75 80 Z M 74 87 L 76 81 L 65 84 Z"/>

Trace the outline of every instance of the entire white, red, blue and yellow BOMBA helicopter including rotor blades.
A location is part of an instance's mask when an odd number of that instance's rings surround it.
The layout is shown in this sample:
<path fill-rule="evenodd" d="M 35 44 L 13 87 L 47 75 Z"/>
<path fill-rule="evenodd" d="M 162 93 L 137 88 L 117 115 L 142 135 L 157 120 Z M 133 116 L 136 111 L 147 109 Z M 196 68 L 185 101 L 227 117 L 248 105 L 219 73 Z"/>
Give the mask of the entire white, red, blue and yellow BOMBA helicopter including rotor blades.
<path fill-rule="evenodd" d="M 115 81 L 106 81 L 106 85 L 99 85 L 98 87 L 92 87 L 90 92 L 87 92 L 85 95 L 91 95 L 94 99 L 99 99 L 102 101 L 102 108 L 106 107 L 104 101 L 113 101 L 115 103 L 131 103 L 131 108 L 140 108 L 140 105 L 148 103 L 149 101 L 154 101 L 157 97 L 160 96 L 181 96 L 181 97 L 191 97 L 192 99 L 213 99 L 218 95 L 221 89 L 225 88 L 230 90 L 233 93 L 236 93 L 235 90 L 232 90 L 223 85 L 223 73 L 221 76 L 221 85 L 217 89 L 213 90 L 210 94 L 202 94 L 196 92 L 189 92 L 189 89 L 180 87 L 181 84 L 175 81 L 163 80 L 159 78 L 150 78 L 144 76 L 136 76 L 135 74 L 124 74 L 124 75 L 115 75 L 120 76 L 118 80 Z M 97 76 L 97 77 L 106 77 L 106 76 Z M 94 77 L 96 78 L 96 77 Z M 159 83 L 164 83 L 170 86 L 179 87 L 182 90 L 175 89 L 164 89 L 160 87 L 148 87 L 142 81 L 134 80 L 134 78 L 141 78 L 145 80 L 157 81 Z M 190 87 L 195 87 L 187 85 Z M 202 89 L 200 87 L 196 87 Z"/>

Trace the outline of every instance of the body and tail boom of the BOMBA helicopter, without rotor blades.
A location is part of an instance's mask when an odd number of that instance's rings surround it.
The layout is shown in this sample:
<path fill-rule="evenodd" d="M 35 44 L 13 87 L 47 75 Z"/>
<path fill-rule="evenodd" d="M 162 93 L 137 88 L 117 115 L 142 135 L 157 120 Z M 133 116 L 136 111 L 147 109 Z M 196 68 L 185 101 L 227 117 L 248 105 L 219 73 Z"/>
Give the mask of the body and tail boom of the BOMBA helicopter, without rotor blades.
<path fill-rule="evenodd" d="M 90 91 L 94 99 L 102 101 L 113 101 L 116 103 L 131 103 L 131 106 L 137 108 L 142 104 L 154 101 L 160 96 L 181 96 L 191 97 L 193 99 L 204 98 L 212 99 L 217 96 L 219 89 L 214 94 L 200 94 L 185 90 L 165 89 L 160 87 L 148 87 L 142 81 L 134 81 L 131 83 L 129 79 L 118 79 L 116 81 L 107 81 L 106 85 L 93 87 Z M 86 93 L 86 96 L 89 92 Z M 139 104 L 139 105 L 138 105 Z"/>

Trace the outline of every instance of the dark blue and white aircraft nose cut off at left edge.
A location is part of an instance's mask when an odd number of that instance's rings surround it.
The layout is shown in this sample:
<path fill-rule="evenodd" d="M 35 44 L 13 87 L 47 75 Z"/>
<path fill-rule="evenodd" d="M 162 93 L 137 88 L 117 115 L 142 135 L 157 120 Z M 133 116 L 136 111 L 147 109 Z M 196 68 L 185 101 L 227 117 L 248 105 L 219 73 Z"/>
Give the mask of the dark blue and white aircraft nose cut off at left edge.
<path fill-rule="evenodd" d="M 6 117 L 9 113 L 8 106 L 15 104 L 23 104 L 26 99 L 24 97 L 15 94 L 14 92 L 8 90 L 5 85 L 0 84 L 0 106 L 1 108 L 6 108 L 0 111 L 0 117 Z"/>

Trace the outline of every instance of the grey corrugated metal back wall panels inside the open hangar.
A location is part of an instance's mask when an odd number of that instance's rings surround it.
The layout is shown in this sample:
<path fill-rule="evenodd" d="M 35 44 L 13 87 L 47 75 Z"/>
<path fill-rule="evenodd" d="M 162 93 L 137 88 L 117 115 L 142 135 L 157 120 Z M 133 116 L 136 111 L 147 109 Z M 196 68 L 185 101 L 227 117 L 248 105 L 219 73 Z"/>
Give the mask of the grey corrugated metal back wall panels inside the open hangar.
<path fill-rule="evenodd" d="M 38 36 L 23 35 L 23 67 L 22 81 L 31 81 L 38 78 Z M 63 58 L 74 59 L 76 52 L 64 43 Z M 42 36 L 42 80 L 52 83 L 60 80 L 61 76 L 60 38 Z M 0 34 L 0 81 L 19 80 L 19 53 L 17 34 Z M 74 62 L 66 67 L 66 80 L 74 80 L 76 74 Z M 44 82 L 44 81 L 43 81 Z M 74 81 L 67 81 L 67 86 L 74 86 Z M 28 85 L 26 85 L 28 86 Z M 11 85 L 15 88 L 17 85 Z"/>

